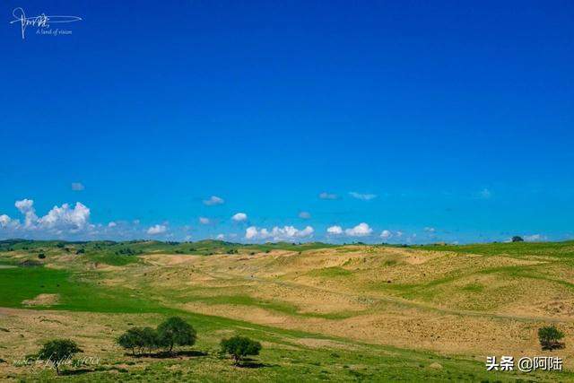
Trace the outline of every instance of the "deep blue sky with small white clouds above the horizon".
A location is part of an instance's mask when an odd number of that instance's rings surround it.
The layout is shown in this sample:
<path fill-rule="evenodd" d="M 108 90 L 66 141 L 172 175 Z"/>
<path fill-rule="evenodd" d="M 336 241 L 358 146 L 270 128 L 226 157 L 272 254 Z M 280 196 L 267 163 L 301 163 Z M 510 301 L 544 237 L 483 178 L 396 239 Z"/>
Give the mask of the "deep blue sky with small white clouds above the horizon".
<path fill-rule="evenodd" d="M 573 238 L 574 4 L 459 3 L 4 2 L 0 239 Z"/>

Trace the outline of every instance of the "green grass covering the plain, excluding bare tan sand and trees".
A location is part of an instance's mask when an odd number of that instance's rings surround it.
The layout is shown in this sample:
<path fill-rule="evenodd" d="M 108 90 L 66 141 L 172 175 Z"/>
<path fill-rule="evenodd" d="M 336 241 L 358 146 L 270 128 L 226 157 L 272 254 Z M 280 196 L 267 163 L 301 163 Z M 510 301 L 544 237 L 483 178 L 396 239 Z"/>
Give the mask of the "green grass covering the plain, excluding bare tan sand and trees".
<path fill-rule="evenodd" d="M 147 244 L 147 245 L 146 245 Z M 461 255 L 480 254 L 493 256 L 504 252 L 511 257 L 523 257 L 525 253 L 532 256 L 557 257 L 561 260 L 570 259 L 572 242 L 560 244 L 493 244 L 475 245 L 468 247 L 423 247 L 423 250 L 454 251 Z M 492 246 L 492 248 L 489 248 Z M 47 255 L 47 260 L 54 259 L 58 267 L 43 265 L 16 266 L 0 268 L 0 307 L 21 309 L 25 312 L 59 313 L 74 320 L 98 321 L 100 325 L 108 326 L 109 335 L 85 334 L 87 330 L 77 330 L 81 345 L 92 351 L 98 350 L 90 345 L 90 339 L 104 344 L 106 352 L 102 352 L 102 360 L 98 366 L 87 366 L 83 369 L 69 370 L 64 377 L 56 378 L 52 370 L 29 369 L 26 367 L 13 368 L 0 363 L 0 379 L 12 380 L 63 380 L 63 381 L 574 381 L 571 372 L 556 373 L 537 372 L 524 374 L 514 372 L 487 372 L 483 361 L 477 361 L 473 355 L 440 354 L 413 348 L 399 348 L 390 345 L 360 342 L 343 336 L 326 335 L 280 328 L 278 326 L 263 326 L 245 320 L 225 318 L 219 315 L 204 315 L 181 309 L 180 301 L 193 301 L 208 306 L 227 305 L 245 310 L 265 309 L 277 312 L 290 318 L 306 318 L 313 320 L 321 318 L 331 321 L 336 326 L 338 320 L 349 318 L 353 314 L 302 314 L 298 307 L 280 300 L 257 299 L 250 295 L 240 294 L 211 294 L 206 296 L 201 290 L 193 287 L 187 290 L 161 290 L 151 284 L 132 283 L 131 285 L 109 284 L 106 280 L 110 274 L 121 275 L 130 270 L 143 267 L 141 254 L 180 254 L 176 252 L 194 248 L 201 257 L 209 257 L 209 253 L 228 253 L 230 249 L 240 248 L 241 254 L 251 251 L 264 252 L 270 248 L 284 247 L 299 253 L 309 249 L 329 248 L 320 244 L 311 245 L 265 245 L 262 248 L 241 248 L 224 242 L 207 242 L 201 244 L 163 244 L 160 242 L 122 243 L 109 242 L 65 243 L 60 242 L 16 242 L 1 245 L 0 263 L 4 265 L 21 265 L 24 260 L 36 260 L 39 252 Z M 292 248 L 291 248 L 292 247 Z M 65 250 L 70 248 L 70 250 Z M 79 248 L 85 252 L 75 256 Z M 120 255 L 117 251 L 129 248 L 137 255 Z M 205 254 L 203 254 L 205 253 Z M 74 255 L 74 262 L 66 260 L 58 264 L 61 256 Z M 197 255 L 196 255 L 197 256 Z M 190 257 L 196 257 L 191 256 Z M 85 265 L 103 263 L 117 269 L 91 270 Z M 63 267 L 62 265 L 65 265 Z M 393 267 L 396 263 L 389 262 L 384 267 Z M 146 269 L 147 270 L 147 269 Z M 171 268 L 170 268 L 171 270 Z M 146 272 L 147 273 L 147 272 Z M 529 267 L 500 268 L 491 273 L 503 273 L 509 276 L 534 275 Z M 353 273 L 341 266 L 329 266 L 308 273 L 309 277 L 319 280 L 337 281 L 352 277 Z M 536 274 L 537 275 L 537 274 Z M 550 278 L 550 277 L 548 277 Z M 452 278 L 442 278 L 430 283 L 393 285 L 384 284 L 381 288 L 394 289 L 406 298 L 431 300 L 436 294 L 434 289 L 452 282 Z M 565 286 L 570 288 L 569 283 Z M 481 283 L 466 283 L 460 294 L 480 294 L 488 288 Z M 209 289 L 204 288 L 205 291 Z M 215 292 L 217 290 L 211 290 Z M 32 300 L 40 294 L 57 294 L 57 304 L 35 306 L 30 308 L 23 303 Z M 179 295 L 178 295 L 179 294 Z M 169 299 L 168 299 L 169 298 Z M 16 315 L 16 314 L 10 314 Z M 39 314 L 32 314 L 39 315 Z M 199 335 L 199 341 L 191 356 L 179 358 L 134 358 L 126 355 L 114 344 L 114 337 L 123 331 L 128 323 L 138 320 L 142 326 L 156 326 L 161 318 L 178 315 L 186 318 Z M 25 316 L 24 316 L 25 317 Z M 13 334 L 12 317 L 0 315 L 0 327 Z M 20 318 L 20 317 L 18 317 Z M 60 317 L 57 317 L 60 318 Z M 135 318 L 135 319 L 134 319 Z M 19 319 L 20 320 L 20 319 Z M 23 319 L 22 319 L 23 320 Z M 56 320 L 56 319 L 54 319 Z M 60 320 L 60 319 L 58 319 Z M 95 323 L 95 322 L 94 322 Z M 19 330 L 24 331 L 25 330 Z M 71 331 L 67 329 L 67 331 Z M 225 334 L 241 334 L 250 336 L 264 344 L 261 355 L 254 358 L 253 368 L 233 367 L 228 358 L 218 353 L 219 340 Z M 1 335 L 2 333 L 0 333 Z M 43 333 L 40 333 L 42 335 Z M 15 336 L 15 335 L 14 335 Z M 26 339 L 34 335 L 23 335 Z M 37 351 L 43 340 L 56 337 L 57 333 L 45 334 L 33 338 L 27 353 Z M 4 361 L 9 360 L 11 347 L 18 341 L 0 339 L 0 356 Z M 384 342 L 383 342 L 384 343 Z M 416 339 L 413 339 L 416 343 Z M 95 347 L 95 348 L 94 348 Z M 101 346 L 98 346 L 101 348 Z M 103 349 L 102 349 L 103 350 Z M 3 368 L 6 368 L 4 371 Z"/>

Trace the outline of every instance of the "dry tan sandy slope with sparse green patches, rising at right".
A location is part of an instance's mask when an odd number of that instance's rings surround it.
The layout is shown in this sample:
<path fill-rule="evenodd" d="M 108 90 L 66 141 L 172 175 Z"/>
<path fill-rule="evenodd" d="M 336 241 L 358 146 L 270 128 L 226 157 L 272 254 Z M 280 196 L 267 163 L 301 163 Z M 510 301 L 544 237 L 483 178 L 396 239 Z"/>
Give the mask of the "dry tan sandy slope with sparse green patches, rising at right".
<path fill-rule="evenodd" d="M 354 246 L 143 259 L 110 282 L 204 314 L 479 359 L 544 354 L 548 323 L 574 344 L 574 274 L 552 257 Z M 571 350 L 552 354 L 571 367 Z"/>

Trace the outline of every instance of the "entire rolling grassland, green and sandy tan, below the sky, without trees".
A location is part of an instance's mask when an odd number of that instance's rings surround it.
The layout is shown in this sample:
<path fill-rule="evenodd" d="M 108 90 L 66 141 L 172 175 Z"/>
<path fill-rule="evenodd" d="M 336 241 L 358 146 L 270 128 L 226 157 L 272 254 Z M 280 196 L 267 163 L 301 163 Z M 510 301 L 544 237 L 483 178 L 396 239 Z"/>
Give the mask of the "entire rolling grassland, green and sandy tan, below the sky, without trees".
<path fill-rule="evenodd" d="M 39 257 L 39 255 L 42 257 Z M 469 246 L 0 241 L 0 380 L 55 336 L 100 363 L 74 381 L 574 381 L 574 242 Z M 178 315 L 193 353 L 136 358 L 114 339 Z M 552 323 L 567 347 L 543 352 Z M 261 341 L 252 368 L 218 353 Z M 562 372 L 486 372 L 487 355 L 555 355 Z"/>

